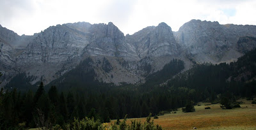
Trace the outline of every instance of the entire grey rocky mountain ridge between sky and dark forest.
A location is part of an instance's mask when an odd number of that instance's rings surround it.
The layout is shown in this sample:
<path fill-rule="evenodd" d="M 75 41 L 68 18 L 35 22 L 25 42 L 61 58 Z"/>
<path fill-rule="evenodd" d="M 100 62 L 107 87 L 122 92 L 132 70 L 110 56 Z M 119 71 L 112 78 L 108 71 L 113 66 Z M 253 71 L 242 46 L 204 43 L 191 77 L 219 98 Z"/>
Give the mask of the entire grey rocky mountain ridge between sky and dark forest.
<path fill-rule="evenodd" d="M 19 36 L 0 25 L 1 85 L 20 73 L 31 85 L 47 84 L 88 57 L 95 80 L 141 83 L 172 59 L 184 61 L 186 70 L 200 62 L 236 61 L 255 47 L 255 25 L 201 20 L 191 20 L 177 32 L 162 22 L 126 36 L 112 22 L 56 25 L 33 36 Z"/>

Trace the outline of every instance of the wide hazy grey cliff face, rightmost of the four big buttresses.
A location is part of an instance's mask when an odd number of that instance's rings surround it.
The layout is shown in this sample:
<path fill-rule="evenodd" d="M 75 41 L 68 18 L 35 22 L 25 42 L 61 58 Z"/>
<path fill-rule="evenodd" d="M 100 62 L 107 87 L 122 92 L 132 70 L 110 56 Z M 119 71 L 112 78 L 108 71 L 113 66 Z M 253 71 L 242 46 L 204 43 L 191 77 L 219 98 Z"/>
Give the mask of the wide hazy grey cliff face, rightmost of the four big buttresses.
<path fill-rule="evenodd" d="M 175 32 L 177 42 L 187 55 L 198 62 L 213 63 L 240 57 L 242 54 L 236 45 L 243 36 L 256 36 L 256 26 L 191 20 Z"/>

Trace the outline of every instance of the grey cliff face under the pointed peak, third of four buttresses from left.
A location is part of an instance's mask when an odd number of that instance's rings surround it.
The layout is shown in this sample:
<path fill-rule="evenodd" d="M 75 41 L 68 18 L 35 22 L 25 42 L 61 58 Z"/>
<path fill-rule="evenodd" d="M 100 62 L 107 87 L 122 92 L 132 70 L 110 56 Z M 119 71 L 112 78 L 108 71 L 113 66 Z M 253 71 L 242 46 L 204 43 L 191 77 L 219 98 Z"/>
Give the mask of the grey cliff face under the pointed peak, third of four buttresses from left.
<path fill-rule="evenodd" d="M 125 38 L 127 43 L 136 48 L 140 58 L 179 54 L 179 45 L 173 37 L 172 29 L 165 23 L 160 23 L 157 27 L 146 27 Z"/>

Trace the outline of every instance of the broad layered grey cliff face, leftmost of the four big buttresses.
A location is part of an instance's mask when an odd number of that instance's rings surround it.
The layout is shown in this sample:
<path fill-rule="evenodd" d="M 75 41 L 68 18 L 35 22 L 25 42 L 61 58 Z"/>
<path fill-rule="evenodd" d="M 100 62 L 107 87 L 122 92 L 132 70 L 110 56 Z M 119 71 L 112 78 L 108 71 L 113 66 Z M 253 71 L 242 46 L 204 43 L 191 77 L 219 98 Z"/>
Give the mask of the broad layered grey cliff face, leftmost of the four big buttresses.
<path fill-rule="evenodd" d="M 86 34 L 70 29 L 67 25 L 56 25 L 31 40 L 16 61 L 18 66 L 68 62 L 81 56 L 88 43 Z"/>

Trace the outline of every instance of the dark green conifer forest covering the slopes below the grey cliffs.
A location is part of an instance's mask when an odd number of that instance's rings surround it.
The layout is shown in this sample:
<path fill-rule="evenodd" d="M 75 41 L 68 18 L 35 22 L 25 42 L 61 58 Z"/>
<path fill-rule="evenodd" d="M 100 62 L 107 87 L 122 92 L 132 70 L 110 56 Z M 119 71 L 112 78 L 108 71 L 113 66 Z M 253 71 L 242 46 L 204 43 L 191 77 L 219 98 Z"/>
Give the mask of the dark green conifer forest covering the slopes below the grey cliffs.
<path fill-rule="evenodd" d="M 154 116 L 163 110 L 172 111 L 198 101 L 220 103 L 220 98 L 227 99 L 227 96 L 234 100 L 252 98 L 256 93 L 256 81 L 253 80 L 256 76 L 255 55 L 256 50 L 252 50 L 230 64 L 195 64 L 178 75 L 184 63 L 173 60 L 161 71 L 148 76 L 142 85 L 120 86 L 97 83 L 91 77 L 84 80 L 88 78 L 86 73 L 95 75 L 89 66 L 92 60 L 87 59 L 63 77 L 70 79 L 56 80 L 57 87 L 50 83 L 51 87 L 47 89 L 41 82 L 36 92 L 2 89 L 0 128 L 20 125 L 36 127 L 39 120 L 65 127 L 74 122 L 74 117 L 109 122 L 110 119 L 122 119 L 125 115 L 127 118 L 147 117 L 149 113 Z M 159 81 L 164 82 L 166 76 L 171 80 L 166 85 L 159 85 Z"/>

